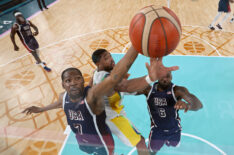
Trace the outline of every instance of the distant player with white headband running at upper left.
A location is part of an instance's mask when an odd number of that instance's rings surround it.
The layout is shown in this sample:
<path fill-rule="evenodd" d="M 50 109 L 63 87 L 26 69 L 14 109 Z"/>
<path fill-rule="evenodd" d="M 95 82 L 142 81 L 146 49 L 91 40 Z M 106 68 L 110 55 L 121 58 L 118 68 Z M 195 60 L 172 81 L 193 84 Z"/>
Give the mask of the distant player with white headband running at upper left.
<path fill-rule="evenodd" d="M 15 43 L 15 34 L 17 33 L 23 45 L 35 58 L 36 63 L 41 65 L 46 71 L 50 72 L 51 69 L 47 67 L 39 57 L 39 45 L 34 37 L 38 35 L 38 28 L 31 21 L 26 20 L 21 12 L 14 11 L 13 14 L 16 18 L 16 23 L 14 23 L 11 28 L 11 41 L 14 45 L 14 50 L 19 50 L 19 47 Z M 34 33 L 31 31 L 31 27 L 34 29 Z"/>

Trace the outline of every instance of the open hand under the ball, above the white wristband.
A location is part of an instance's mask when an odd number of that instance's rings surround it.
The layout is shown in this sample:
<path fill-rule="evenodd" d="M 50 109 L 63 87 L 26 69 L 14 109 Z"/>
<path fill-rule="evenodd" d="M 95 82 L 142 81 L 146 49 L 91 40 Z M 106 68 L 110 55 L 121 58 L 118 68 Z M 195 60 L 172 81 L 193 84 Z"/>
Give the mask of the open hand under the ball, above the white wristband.
<path fill-rule="evenodd" d="M 146 68 L 151 81 L 156 81 L 167 75 L 170 71 L 176 71 L 178 66 L 165 67 L 162 63 L 162 58 L 150 58 L 150 65 L 146 63 Z"/>

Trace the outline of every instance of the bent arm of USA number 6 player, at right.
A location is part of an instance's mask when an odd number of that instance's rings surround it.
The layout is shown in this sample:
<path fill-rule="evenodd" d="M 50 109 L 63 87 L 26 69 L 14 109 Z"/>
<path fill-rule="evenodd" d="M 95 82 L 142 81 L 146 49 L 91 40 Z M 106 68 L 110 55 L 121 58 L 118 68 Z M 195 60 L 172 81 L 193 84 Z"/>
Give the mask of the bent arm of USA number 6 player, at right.
<path fill-rule="evenodd" d="M 203 107 L 201 101 L 195 95 L 191 94 L 187 88 L 175 86 L 174 92 L 175 96 L 179 98 L 175 109 L 184 109 L 184 112 L 187 112 L 188 110 L 197 111 Z M 182 99 L 188 103 L 185 103 Z"/>

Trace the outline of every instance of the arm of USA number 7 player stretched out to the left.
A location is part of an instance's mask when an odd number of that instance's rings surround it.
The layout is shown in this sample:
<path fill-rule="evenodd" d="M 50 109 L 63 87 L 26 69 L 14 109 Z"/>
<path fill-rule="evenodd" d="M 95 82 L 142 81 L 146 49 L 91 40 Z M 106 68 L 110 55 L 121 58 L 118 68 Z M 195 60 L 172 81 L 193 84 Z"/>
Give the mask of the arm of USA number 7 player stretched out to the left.
<path fill-rule="evenodd" d="M 31 106 L 31 107 L 26 108 L 24 111 L 22 111 L 22 113 L 26 113 L 28 115 L 31 113 L 41 113 L 41 112 L 52 110 L 52 109 L 62 108 L 63 95 L 64 95 L 64 92 L 59 95 L 58 101 L 55 101 L 54 103 L 47 105 L 46 107 Z"/>

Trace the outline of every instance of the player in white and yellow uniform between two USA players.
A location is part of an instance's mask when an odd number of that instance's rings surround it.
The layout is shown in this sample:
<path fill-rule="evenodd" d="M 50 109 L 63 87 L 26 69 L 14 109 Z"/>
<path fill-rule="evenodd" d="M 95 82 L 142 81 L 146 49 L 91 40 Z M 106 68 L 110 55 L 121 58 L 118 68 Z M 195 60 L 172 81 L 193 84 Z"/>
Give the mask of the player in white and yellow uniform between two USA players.
<path fill-rule="evenodd" d="M 111 54 L 105 49 L 98 49 L 92 54 L 92 60 L 97 66 L 97 69 L 93 75 L 93 85 L 97 85 L 102 82 L 106 77 L 110 75 L 110 72 L 115 66 L 115 62 Z M 123 99 L 123 92 L 119 92 L 118 88 L 126 85 L 126 80 L 122 81 L 119 86 L 115 87 L 115 91 L 110 91 L 108 96 L 105 96 L 105 110 L 106 110 L 106 123 L 109 126 L 111 132 L 115 134 L 125 145 L 137 148 L 138 153 L 141 150 L 147 150 L 145 139 L 137 131 L 134 125 L 126 117 L 124 106 L 121 104 Z M 138 85 L 138 82 L 135 83 Z M 145 89 L 147 87 L 143 85 Z M 123 89 L 123 88 L 122 88 Z M 129 91 L 129 90 L 124 90 Z M 136 88 L 134 91 L 137 91 Z"/>

